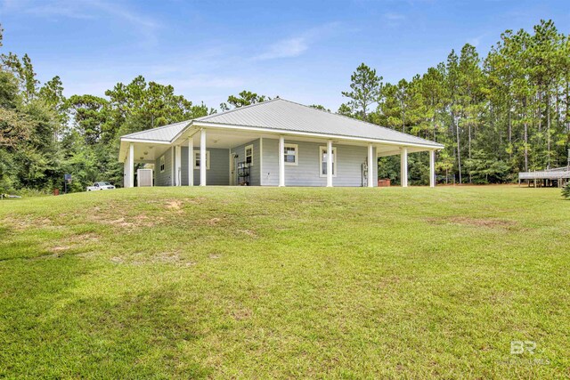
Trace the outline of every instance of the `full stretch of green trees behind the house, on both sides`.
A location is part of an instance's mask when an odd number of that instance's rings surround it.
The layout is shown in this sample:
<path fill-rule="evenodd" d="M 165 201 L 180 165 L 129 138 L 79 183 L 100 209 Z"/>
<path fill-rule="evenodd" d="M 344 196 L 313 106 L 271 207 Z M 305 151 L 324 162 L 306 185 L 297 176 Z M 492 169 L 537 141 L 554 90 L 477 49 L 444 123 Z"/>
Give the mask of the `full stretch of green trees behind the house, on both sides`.
<path fill-rule="evenodd" d="M 409 81 L 384 83 L 362 63 L 342 95 L 338 114 L 444 143 L 436 157 L 440 181 L 510 182 L 519 171 L 567 164 L 570 38 L 551 20 L 532 33 L 505 31 L 485 59 L 465 44 Z M 268 99 L 243 91 L 220 109 Z M 121 135 L 215 112 L 141 76 L 105 97 L 66 98 L 60 77 L 42 85 L 27 54 L 2 53 L 0 192 L 61 188 L 63 174 L 73 175 L 76 191 L 101 180 L 120 185 Z M 411 154 L 409 162 L 410 182 L 427 183 L 428 155 Z M 399 172 L 399 158 L 379 160 L 379 176 L 398 182 Z"/>

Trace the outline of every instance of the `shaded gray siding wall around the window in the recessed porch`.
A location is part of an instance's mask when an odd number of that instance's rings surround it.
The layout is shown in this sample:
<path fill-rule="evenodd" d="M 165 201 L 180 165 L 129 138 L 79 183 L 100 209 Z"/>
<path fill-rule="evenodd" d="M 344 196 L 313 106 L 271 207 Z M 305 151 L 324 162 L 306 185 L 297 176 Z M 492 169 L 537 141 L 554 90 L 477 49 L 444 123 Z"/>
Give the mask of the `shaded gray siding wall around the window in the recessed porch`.
<path fill-rule="evenodd" d="M 230 184 L 230 150 L 207 149 L 210 152 L 210 168 L 206 170 L 207 185 Z M 198 152 L 199 147 L 194 147 Z M 188 147 L 182 147 L 182 185 L 188 186 Z M 191 165 L 194 165 L 192 159 Z M 199 169 L 194 169 L 194 185 L 199 185 Z"/>

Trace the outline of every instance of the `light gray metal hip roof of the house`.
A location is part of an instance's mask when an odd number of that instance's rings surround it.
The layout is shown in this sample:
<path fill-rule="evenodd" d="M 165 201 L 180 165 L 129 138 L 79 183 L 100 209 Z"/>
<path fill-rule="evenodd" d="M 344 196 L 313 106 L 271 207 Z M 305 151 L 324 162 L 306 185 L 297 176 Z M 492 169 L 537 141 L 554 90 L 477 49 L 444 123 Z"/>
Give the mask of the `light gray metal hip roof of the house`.
<path fill-rule="evenodd" d="M 338 135 L 367 140 L 395 141 L 444 148 L 435 141 L 421 139 L 411 134 L 394 129 L 366 123 L 352 117 L 345 117 L 321 109 L 314 109 L 293 101 L 273 99 L 252 104 L 239 109 L 231 109 L 219 114 L 199 117 L 194 120 L 165 125 L 148 131 L 131 133 L 123 138 L 135 140 L 173 141 L 185 126 L 191 122 L 216 125 L 239 125 L 265 128 L 268 130 L 288 131 L 291 133 L 315 133 Z"/>

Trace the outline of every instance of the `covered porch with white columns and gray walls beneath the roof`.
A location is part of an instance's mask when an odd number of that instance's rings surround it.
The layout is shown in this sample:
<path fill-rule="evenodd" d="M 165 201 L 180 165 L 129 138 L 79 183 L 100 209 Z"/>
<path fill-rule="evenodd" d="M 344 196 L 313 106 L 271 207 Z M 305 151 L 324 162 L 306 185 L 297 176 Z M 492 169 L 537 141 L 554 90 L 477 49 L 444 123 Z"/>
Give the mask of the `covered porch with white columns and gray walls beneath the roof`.
<path fill-rule="evenodd" d="M 144 163 L 154 165 L 157 186 L 244 184 L 238 172 L 245 165 L 248 185 L 376 187 L 378 158 L 399 155 L 401 186 L 407 187 L 408 155 L 423 151 L 429 154 L 429 185 L 436 185 L 436 149 L 251 129 L 194 122 L 173 141 L 122 139 L 119 157 L 124 163 L 124 186 L 136 185 L 134 167 Z"/>

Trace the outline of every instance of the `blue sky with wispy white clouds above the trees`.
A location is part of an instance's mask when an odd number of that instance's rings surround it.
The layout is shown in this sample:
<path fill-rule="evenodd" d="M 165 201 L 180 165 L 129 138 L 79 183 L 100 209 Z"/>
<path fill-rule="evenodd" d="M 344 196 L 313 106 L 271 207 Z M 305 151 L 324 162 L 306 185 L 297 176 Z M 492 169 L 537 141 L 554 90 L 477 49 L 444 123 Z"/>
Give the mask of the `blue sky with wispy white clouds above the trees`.
<path fill-rule="evenodd" d="M 570 33 L 570 1 L 0 0 L 2 53 L 28 53 L 43 83 L 103 96 L 142 75 L 218 108 L 246 89 L 336 110 L 364 62 L 395 83 L 506 29 L 552 19 Z"/>

